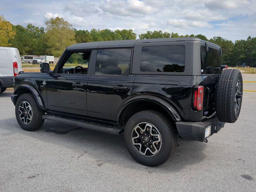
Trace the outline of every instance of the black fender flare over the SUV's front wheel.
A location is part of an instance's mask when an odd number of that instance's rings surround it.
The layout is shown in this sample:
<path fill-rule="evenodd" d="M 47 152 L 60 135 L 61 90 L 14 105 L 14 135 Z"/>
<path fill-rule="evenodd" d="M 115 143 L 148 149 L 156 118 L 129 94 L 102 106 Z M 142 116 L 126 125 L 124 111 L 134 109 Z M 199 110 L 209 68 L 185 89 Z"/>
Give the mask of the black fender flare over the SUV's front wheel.
<path fill-rule="evenodd" d="M 46 110 L 46 109 L 44 108 L 44 103 L 42 102 L 42 97 L 40 96 L 40 94 L 38 93 L 38 91 L 37 91 L 33 86 L 28 85 L 28 84 L 22 84 L 22 85 L 18 86 L 18 87 L 14 90 L 14 93 L 13 93 L 13 95 L 11 96 L 13 104 L 14 104 L 14 105 L 16 104 L 16 101 L 17 101 L 18 97 L 20 96 L 20 95 L 18 95 L 18 91 L 19 91 L 20 89 L 24 89 L 24 88 L 27 89 L 27 90 L 29 90 L 29 91 L 33 94 L 33 96 L 34 96 L 34 98 L 36 99 L 36 102 L 37 102 L 39 108 L 42 109 L 42 110 Z"/>

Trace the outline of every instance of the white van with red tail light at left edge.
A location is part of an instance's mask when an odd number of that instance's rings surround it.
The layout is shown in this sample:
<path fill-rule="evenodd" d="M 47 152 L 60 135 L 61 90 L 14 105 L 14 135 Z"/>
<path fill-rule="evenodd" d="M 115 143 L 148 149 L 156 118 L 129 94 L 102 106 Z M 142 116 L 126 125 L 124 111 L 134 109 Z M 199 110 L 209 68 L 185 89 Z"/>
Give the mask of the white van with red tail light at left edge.
<path fill-rule="evenodd" d="M 0 47 L 0 93 L 13 87 L 13 78 L 22 70 L 20 52 L 13 47 Z"/>

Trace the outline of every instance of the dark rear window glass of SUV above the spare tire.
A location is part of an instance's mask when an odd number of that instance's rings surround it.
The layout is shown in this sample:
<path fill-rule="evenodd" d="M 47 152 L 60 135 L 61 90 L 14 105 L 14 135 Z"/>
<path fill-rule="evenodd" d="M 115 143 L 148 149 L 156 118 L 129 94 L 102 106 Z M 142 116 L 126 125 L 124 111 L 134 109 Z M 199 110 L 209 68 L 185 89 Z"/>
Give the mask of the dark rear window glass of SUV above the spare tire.
<path fill-rule="evenodd" d="M 201 46 L 201 74 L 218 74 L 221 65 L 220 50 L 209 47 L 206 52 L 205 46 Z"/>

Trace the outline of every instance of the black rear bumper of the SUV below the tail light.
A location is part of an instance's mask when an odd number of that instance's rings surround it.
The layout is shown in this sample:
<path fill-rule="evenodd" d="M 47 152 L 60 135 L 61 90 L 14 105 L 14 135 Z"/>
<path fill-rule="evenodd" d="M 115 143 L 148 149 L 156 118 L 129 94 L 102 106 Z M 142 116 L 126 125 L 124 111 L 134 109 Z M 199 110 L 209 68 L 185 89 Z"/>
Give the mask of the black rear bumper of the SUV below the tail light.
<path fill-rule="evenodd" d="M 177 121 L 176 127 L 181 138 L 203 142 L 206 139 L 205 129 L 207 126 L 211 126 L 211 136 L 212 134 L 217 133 L 222 127 L 224 127 L 224 124 L 224 122 L 219 121 L 217 116 L 215 116 L 205 121 L 198 122 Z"/>

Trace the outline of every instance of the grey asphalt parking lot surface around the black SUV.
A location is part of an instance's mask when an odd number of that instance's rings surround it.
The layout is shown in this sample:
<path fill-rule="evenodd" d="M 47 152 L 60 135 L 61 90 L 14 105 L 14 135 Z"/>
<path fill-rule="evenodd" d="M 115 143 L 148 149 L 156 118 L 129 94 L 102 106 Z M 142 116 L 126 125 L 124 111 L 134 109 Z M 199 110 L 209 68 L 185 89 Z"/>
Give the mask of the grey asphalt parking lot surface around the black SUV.
<path fill-rule="evenodd" d="M 122 136 L 48 121 L 22 130 L 11 94 L 0 95 L 0 192 L 256 191 L 254 92 L 244 92 L 236 123 L 208 143 L 178 139 L 174 156 L 153 168 L 133 160 Z"/>

